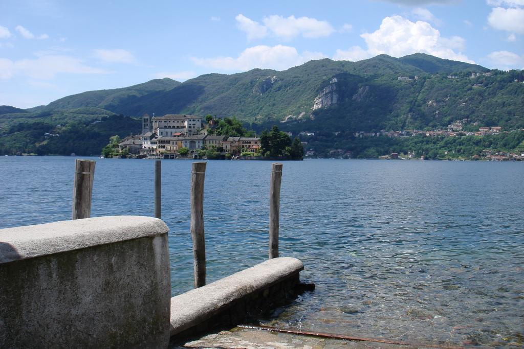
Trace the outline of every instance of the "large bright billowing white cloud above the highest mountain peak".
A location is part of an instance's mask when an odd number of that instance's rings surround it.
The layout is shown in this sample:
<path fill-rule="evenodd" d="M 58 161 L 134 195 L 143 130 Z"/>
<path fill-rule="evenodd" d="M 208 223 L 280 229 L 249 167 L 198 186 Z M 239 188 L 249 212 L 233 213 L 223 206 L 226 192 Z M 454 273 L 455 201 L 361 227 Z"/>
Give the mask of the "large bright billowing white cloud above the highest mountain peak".
<path fill-rule="evenodd" d="M 372 33 L 363 33 L 361 37 L 366 41 L 370 56 L 386 53 L 393 57 L 402 57 L 422 52 L 444 59 L 474 63 L 466 55 L 454 51 L 464 47 L 464 39 L 457 36 L 444 38 L 439 30 L 424 21 L 412 22 L 401 16 L 386 17 L 379 29 Z"/>

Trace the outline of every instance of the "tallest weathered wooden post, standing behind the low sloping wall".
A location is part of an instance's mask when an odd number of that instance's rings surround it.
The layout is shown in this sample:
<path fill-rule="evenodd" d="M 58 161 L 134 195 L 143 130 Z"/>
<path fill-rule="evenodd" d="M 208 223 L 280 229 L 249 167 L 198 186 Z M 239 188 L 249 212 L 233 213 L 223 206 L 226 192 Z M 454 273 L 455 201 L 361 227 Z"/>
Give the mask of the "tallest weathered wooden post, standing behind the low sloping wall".
<path fill-rule="evenodd" d="M 205 285 L 204 178 L 205 162 L 193 162 L 191 171 L 191 238 L 194 287 Z"/>

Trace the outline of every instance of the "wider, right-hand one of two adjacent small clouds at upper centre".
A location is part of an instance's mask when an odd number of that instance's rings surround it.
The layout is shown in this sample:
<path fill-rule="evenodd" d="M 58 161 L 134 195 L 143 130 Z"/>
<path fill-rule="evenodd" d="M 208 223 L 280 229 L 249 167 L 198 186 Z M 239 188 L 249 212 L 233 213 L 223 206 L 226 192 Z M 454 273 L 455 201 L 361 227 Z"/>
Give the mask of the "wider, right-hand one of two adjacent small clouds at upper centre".
<path fill-rule="evenodd" d="M 265 17 L 264 24 L 277 37 L 283 39 L 292 39 L 299 35 L 304 38 L 321 38 L 330 36 L 335 31 L 328 21 L 309 17 L 284 18 L 274 15 Z"/>

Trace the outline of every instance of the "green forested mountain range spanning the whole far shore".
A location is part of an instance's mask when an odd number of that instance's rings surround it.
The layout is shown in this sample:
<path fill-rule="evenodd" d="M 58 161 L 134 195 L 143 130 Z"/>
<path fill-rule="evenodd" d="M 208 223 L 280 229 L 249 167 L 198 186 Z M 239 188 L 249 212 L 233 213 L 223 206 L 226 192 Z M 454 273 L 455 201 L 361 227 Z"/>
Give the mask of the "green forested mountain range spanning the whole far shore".
<path fill-rule="evenodd" d="M 439 129 L 462 119 L 472 129 L 511 130 L 524 128 L 523 81 L 524 71 L 489 70 L 422 53 L 380 54 L 358 62 L 322 59 L 285 71 L 205 74 L 183 83 L 151 80 L 27 110 L 3 107 L 0 134 L 10 134 L 20 122 L 43 122 L 53 133 L 72 122 L 90 125 L 115 114 L 153 113 L 235 116 L 257 132 L 278 124 L 294 134 L 324 134 L 324 148 L 339 147 L 331 144 L 335 133 L 347 138 L 355 131 Z M 139 131 L 139 123 L 122 120 L 126 130 Z"/>

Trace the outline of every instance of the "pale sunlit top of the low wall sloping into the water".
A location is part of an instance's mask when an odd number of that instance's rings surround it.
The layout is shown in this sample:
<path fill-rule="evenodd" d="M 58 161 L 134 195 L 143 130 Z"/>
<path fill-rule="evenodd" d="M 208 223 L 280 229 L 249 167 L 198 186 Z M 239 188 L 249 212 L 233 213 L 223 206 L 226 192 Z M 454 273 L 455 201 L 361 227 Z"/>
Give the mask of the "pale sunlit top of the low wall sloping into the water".
<path fill-rule="evenodd" d="M 235 303 L 268 290 L 290 278 L 298 283 L 304 265 L 297 258 L 280 257 L 171 298 L 171 336 L 220 315 Z M 267 292 L 269 293 L 269 292 Z"/>

